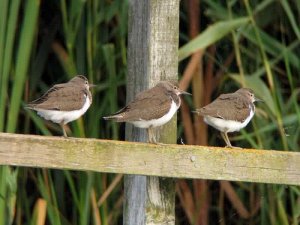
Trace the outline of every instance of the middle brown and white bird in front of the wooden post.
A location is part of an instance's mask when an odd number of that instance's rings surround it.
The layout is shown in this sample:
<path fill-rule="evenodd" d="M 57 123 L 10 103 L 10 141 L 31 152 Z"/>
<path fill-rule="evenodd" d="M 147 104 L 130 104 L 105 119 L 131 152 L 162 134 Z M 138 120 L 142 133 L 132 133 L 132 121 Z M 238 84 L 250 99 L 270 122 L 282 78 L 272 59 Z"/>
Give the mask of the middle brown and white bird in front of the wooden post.
<path fill-rule="evenodd" d="M 190 93 L 180 90 L 177 82 L 161 81 L 155 87 L 142 91 L 127 106 L 105 120 L 128 122 L 139 128 L 146 128 L 148 142 L 157 143 L 154 127 L 166 124 L 181 104 L 180 95 Z"/>

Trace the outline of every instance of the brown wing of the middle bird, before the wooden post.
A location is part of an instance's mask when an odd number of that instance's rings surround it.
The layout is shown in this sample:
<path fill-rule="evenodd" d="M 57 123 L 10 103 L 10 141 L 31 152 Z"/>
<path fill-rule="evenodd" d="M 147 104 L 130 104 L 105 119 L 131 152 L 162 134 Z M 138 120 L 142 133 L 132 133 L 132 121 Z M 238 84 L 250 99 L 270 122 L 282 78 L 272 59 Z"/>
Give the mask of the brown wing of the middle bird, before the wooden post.
<path fill-rule="evenodd" d="M 106 119 L 125 122 L 160 118 L 169 111 L 171 101 L 170 97 L 154 87 L 141 92 L 126 107 Z"/>

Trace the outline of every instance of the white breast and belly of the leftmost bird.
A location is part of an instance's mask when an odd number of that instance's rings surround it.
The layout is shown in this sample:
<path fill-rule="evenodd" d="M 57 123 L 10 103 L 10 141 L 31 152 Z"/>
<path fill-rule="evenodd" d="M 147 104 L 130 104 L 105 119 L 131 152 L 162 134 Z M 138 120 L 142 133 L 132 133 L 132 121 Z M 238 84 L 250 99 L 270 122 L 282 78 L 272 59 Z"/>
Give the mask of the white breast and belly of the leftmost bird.
<path fill-rule="evenodd" d="M 37 114 L 46 120 L 51 120 L 54 123 L 64 123 L 67 124 L 73 120 L 77 120 L 81 117 L 90 107 L 91 101 L 86 96 L 85 103 L 81 109 L 73 111 L 57 111 L 57 110 L 44 110 L 44 109 L 35 109 Z"/>

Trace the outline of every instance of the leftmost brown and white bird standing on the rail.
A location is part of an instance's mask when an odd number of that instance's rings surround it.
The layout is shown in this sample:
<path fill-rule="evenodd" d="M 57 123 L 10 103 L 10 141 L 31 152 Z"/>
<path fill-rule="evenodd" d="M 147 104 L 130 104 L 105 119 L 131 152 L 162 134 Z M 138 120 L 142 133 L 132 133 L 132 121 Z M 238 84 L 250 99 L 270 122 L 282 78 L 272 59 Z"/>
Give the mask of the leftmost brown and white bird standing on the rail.
<path fill-rule="evenodd" d="M 81 117 L 92 104 L 90 84 L 83 75 L 77 75 L 67 83 L 56 84 L 40 98 L 25 108 L 34 110 L 46 120 L 58 123 L 67 137 L 64 125 Z"/>

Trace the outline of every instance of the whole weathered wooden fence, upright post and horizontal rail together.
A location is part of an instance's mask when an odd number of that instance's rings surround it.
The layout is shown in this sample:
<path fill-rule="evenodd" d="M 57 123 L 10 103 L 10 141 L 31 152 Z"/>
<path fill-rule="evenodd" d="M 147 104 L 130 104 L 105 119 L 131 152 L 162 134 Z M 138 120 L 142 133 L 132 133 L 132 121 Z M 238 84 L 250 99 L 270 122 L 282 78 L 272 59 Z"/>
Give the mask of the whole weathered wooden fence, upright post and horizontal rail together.
<path fill-rule="evenodd" d="M 177 79 L 179 0 L 130 0 L 128 14 L 127 101 L 159 80 Z M 163 129 L 161 141 L 175 142 L 176 119 Z M 145 131 L 127 126 L 126 138 L 143 141 Z M 128 174 L 124 225 L 175 224 L 173 179 L 157 177 L 300 185 L 300 153 L 272 150 L 0 133 L 0 165 Z"/>

